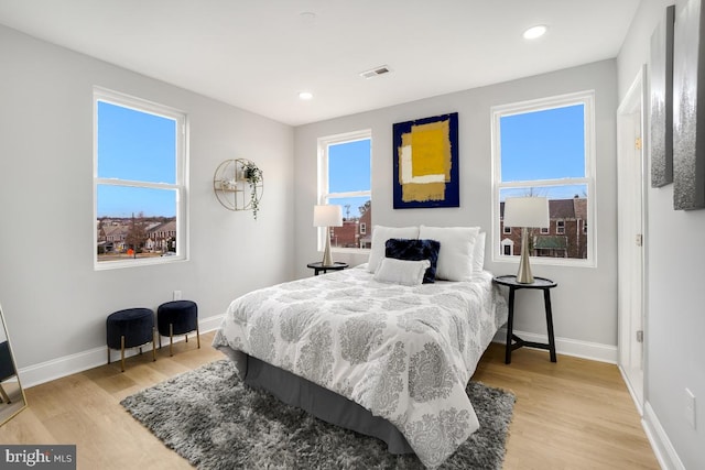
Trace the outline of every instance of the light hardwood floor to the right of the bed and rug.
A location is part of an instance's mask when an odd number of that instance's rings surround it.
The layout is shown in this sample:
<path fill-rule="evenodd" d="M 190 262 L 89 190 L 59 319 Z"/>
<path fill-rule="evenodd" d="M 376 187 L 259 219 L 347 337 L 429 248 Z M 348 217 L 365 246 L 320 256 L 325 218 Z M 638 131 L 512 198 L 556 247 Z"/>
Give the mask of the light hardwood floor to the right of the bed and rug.
<path fill-rule="evenodd" d="M 473 380 L 517 395 L 505 469 L 659 469 L 617 365 L 490 345 Z"/>

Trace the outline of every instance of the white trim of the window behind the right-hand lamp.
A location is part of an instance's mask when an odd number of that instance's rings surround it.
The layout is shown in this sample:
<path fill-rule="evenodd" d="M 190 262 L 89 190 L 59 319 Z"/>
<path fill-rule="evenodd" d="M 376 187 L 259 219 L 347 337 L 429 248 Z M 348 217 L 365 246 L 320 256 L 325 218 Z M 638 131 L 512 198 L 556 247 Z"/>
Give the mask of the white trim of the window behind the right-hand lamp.
<path fill-rule="evenodd" d="M 520 114 L 532 111 L 540 111 L 551 108 L 562 108 L 566 106 L 583 103 L 585 106 L 585 177 L 583 178 L 561 178 L 561 179 L 538 179 L 532 181 L 533 185 L 529 185 L 528 182 L 501 182 L 501 162 L 500 162 L 500 119 L 505 116 Z M 513 102 L 508 105 L 494 106 L 490 110 L 492 128 L 491 128 L 491 141 L 492 141 L 492 225 L 491 225 L 491 243 L 490 250 L 492 255 L 492 262 L 496 263 L 518 263 L 513 256 L 507 256 L 501 253 L 500 240 L 501 230 L 499 221 L 499 192 L 503 188 L 511 187 L 527 187 L 527 186 L 565 186 L 565 185 L 586 185 L 588 194 L 587 204 L 587 221 L 592 230 L 587 233 L 587 258 L 586 259 L 563 259 L 563 258 L 550 258 L 550 256 L 531 256 L 532 264 L 546 264 L 546 265 L 566 265 L 566 266 L 582 266 L 582 267 L 596 267 L 597 266 L 597 197 L 595 193 L 595 91 L 577 91 L 573 94 L 558 95 L 549 98 L 540 98 L 528 101 Z"/>

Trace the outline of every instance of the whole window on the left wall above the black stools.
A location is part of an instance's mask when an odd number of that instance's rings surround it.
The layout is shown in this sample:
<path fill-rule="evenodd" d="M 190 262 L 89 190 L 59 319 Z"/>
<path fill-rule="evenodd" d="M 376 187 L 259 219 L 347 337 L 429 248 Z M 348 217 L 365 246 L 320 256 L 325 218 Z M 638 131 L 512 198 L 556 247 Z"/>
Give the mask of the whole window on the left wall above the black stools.
<path fill-rule="evenodd" d="M 94 89 L 97 270 L 186 259 L 186 116 Z"/>

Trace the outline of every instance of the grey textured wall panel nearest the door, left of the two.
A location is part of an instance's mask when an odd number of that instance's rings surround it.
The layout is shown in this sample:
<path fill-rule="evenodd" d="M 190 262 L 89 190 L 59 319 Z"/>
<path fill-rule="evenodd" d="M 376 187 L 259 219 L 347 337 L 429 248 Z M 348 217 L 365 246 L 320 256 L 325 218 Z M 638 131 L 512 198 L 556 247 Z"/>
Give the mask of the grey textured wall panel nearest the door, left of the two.
<path fill-rule="evenodd" d="M 673 23 L 675 6 L 651 35 L 651 186 L 673 183 Z"/>

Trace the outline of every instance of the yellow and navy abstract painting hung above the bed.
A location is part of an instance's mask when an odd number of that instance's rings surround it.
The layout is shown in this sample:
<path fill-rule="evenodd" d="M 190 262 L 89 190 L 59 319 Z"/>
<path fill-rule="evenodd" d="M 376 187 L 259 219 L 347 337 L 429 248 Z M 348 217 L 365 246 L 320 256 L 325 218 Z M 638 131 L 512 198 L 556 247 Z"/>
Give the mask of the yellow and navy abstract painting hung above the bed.
<path fill-rule="evenodd" d="M 394 209 L 459 207 L 458 113 L 393 125 Z"/>

